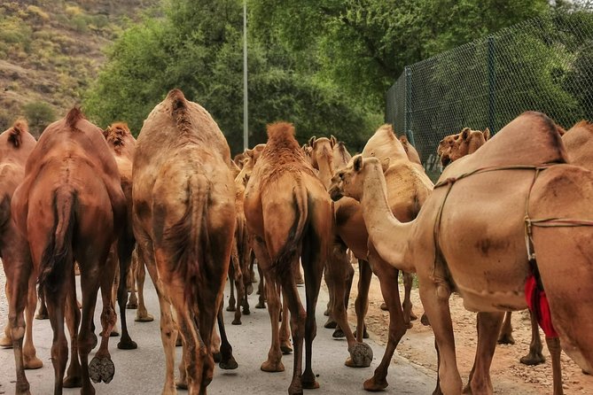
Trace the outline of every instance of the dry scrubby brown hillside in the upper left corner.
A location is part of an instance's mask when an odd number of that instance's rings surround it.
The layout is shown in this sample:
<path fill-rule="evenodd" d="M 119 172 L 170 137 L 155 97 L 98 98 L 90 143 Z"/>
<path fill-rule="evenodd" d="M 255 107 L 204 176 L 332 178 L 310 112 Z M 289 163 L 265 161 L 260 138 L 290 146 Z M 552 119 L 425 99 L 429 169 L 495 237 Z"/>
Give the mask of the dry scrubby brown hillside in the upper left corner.
<path fill-rule="evenodd" d="M 18 117 L 38 135 L 80 103 L 104 50 L 159 0 L 19 0 L 0 4 L 0 132 Z"/>

